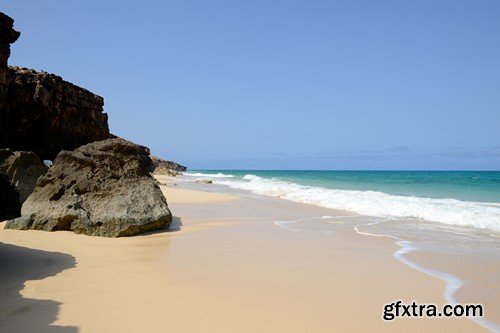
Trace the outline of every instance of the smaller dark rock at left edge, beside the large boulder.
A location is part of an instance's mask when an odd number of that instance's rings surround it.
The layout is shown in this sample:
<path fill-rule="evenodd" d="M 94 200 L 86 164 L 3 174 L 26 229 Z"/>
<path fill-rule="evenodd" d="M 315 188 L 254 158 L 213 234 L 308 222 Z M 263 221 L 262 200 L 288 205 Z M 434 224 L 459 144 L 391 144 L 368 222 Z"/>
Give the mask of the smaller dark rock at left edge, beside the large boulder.
<path fill-rule="evenodd" d="M 47 166 L 31 151 L 11 151 L 0 149 L 0 172 L 6 174 L 22 204 L 35 188 L 36 180 L 45 172 Z"/>

